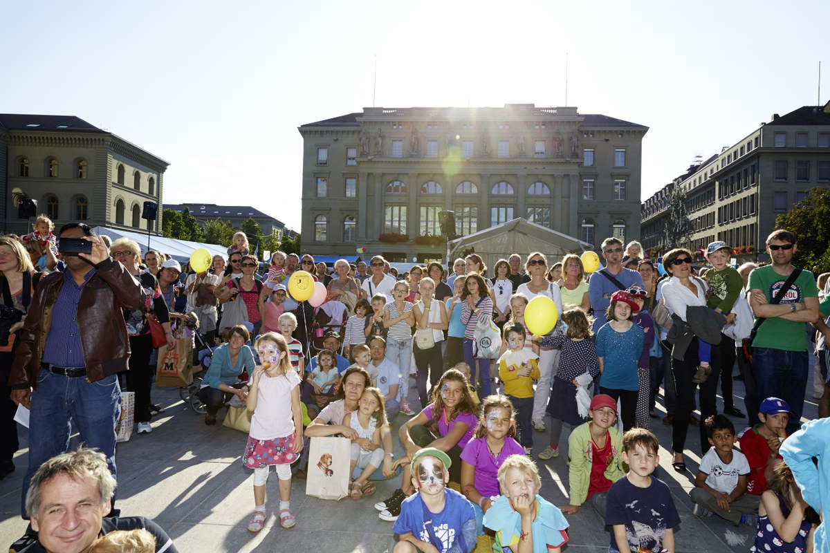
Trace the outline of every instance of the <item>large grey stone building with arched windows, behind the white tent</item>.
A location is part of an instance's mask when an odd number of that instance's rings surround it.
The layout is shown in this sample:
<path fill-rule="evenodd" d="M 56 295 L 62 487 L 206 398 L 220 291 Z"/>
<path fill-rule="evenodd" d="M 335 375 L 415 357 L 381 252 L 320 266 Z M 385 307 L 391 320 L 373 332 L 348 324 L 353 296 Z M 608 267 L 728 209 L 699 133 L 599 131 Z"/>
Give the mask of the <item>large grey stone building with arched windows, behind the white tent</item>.
<path fill-rule="evenodd" d="M 457 235 L 524 217 L 597 247 L 639 238 L 640 124 L 507 104 L 364 108 L 299 130 L 312 254 L 440 259 L 445 210 Z"/>

